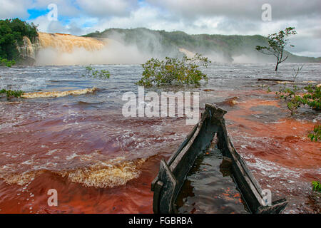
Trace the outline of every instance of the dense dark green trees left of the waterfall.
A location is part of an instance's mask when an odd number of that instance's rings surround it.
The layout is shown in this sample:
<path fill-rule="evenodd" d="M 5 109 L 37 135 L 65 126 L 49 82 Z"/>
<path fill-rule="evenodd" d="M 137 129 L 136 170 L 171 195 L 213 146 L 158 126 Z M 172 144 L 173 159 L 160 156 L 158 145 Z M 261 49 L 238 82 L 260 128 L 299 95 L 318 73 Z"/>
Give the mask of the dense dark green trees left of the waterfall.
<path fill-rule="evenodd" d="M 18 61 L 19 51 L 16 47 L 23 44 L 24 36 L 34 42 L 38 33 L 33 23 L 28 24 L 20 19 L 0 20 L 0 59 Z"/>

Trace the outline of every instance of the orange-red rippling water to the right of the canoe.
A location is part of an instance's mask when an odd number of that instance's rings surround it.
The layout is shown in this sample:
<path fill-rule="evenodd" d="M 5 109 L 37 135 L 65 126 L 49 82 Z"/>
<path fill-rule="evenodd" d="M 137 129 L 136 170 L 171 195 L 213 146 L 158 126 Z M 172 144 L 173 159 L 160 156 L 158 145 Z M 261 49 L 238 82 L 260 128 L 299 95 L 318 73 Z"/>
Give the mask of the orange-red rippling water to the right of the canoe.
<path fill-rule="evenodd" d="M 229 133 L 263 189 L 287 198 L 285 213 L 320 213 L 310 197 L 311 181 L 321 178 L 321 147 L 307 138 L 320 122 L 290 117 L 284 107 L 272 95 L 242 100 L 225 115 Z"/>

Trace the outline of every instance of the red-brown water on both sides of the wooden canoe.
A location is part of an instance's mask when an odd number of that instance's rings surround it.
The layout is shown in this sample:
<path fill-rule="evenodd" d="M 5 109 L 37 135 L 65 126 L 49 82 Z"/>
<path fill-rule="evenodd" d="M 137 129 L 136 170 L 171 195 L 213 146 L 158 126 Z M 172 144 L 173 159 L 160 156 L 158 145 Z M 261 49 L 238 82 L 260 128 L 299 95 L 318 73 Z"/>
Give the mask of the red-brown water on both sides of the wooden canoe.
<path fill-rule="evenodd" d="M 228 130 L 263 189 L 287 197 L 287 213 L 316 212 L 309 196 L 310 182 L 320 179 L 320 142 L 307 138 L 315 123 L 290 118 L 260 90 L 222 94 L 239 97 L 225 103 Z M 152 213 L 159 162 L 193 126 L 88 106 L 1 104 L 1 213 Z M 48 206 L 49 189 L 58 207 Z"/>

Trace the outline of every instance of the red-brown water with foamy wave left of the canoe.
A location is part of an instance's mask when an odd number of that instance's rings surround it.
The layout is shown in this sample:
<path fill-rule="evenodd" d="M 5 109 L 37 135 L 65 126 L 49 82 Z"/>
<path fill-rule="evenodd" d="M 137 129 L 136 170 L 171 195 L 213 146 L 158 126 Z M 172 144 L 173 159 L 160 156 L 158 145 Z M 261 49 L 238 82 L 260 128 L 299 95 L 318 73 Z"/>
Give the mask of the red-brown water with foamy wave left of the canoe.
<path fill-rule="evenodd" d="M 193 126 L 76 106 L 3 103 L 1 213 L 151 213 L 151 181 Z M 85 105 L 86 106 L 86 105 Z M 49 189 L 58 207 L 49 207 Z"/>

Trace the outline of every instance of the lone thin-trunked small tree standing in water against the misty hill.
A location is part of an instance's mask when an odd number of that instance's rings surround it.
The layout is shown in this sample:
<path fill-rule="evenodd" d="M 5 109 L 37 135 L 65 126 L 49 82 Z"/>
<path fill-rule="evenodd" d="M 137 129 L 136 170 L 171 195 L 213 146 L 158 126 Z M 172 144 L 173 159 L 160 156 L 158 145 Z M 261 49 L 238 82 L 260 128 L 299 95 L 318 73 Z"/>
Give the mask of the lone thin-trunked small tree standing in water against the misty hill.
<path fill-rule="evenodd" d="M 275 71 L 277 71 L 277 66 L 284 62 L 287 57 L 289 57 L 284 56 L 284 48 L 289 43 L 289 39 L 287 37 L 290 35 L 295 35 L 296 33 L 297 32 L 295 31 L 294 27 L 287 27 L 278 33 L 273 33 L 267 36 L 267 42 L 269 43 L 269 46 L 256 46 L 255 49 L 265 55 L 275 56 L 277 58 Z M 290 46 L 294 47 L 292 44 L 290 44 Z"/>

